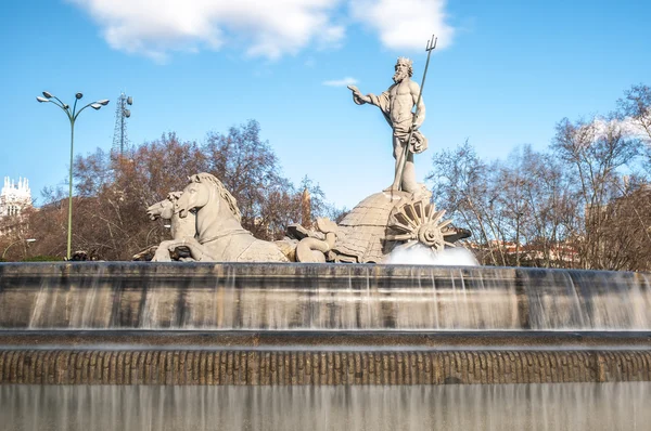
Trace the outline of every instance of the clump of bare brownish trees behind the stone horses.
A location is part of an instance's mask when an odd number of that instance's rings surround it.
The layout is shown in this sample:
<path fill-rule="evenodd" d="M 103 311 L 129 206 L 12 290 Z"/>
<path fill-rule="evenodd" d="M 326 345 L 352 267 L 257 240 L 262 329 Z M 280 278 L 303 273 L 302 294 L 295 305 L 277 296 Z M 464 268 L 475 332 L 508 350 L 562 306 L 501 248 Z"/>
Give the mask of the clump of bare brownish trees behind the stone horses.
<path fill-rule="evenodd" d="M 206 142 L 181 141 L 175 133 L 112 158 L 98 149 L 74 164 L 73 244 L 91 256 L 128 260 L 169 233 L 162 221 L 151 222 L 145 209 L 188 184 L 188 177 L 209 172 L 232 191 L 242 210 L 243 225 L 255 236 L 276 239 L 289 223 L 301 220 L 301 191 L 280 174 L 268 142 L 259 139 L 259 125 L 250 121 L 228 134 L 208 134 Z M 319 217 L 330 207 L 318 186 L 306 179 Z M 67 205 L 63 193 L 49 191 L 48 203 L 30 217 L 30 226 L 47 237 L 38 252 L 63 257 Z M 36 247 L 35 247 L 36 248 Z"/>

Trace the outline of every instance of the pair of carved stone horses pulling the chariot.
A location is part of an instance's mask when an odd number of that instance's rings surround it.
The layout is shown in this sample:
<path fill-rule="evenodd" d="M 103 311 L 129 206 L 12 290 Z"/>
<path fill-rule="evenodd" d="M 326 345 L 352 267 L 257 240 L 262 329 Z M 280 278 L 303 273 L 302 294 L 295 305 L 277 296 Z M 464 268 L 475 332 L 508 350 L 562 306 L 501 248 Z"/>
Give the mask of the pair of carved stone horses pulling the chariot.
<path fill-rule="evenodd" d="M 224 184 L 209 173 L 197 173 L 189 178 L 190 184 L 170 199 L 174 210 L 165 201 L 159 205 L 161 217 L 173 220 L 173 225 L 182 226 L 173 232 L 174 239 L 161 243 L 152 261 L 168 262 L 170 252 L 177 247 L 187 247 L 195 261 L 212 262 L 288 262 L 280 248 L 269 241 L 255 238 L 244 230 L 235 198 Z M 171 194 L 170 194 L 171 195 Z M 152 208 L 157 212 L 157 208 Z M 151 217 L 152 214 L 150 214 Z M 186 220 L 192 220 L 188 223 Z M 194 224 L 194 228 L 188 228 Z M 192 235 L 194 234 L 194 235 Z"/>

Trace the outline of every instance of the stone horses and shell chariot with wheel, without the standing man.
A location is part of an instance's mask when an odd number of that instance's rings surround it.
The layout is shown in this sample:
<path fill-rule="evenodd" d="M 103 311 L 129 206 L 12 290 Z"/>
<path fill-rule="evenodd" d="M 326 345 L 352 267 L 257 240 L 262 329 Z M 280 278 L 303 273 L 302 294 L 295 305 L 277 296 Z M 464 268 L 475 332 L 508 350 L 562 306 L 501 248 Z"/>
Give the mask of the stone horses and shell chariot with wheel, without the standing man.
<path fill-rule="evenodd" d="M 152 205 L 150 219 L 170 220 L 173 239 L 133 258 L 165 262 L 357 262 L 381 263 L 397 247 L 417 244 L 433 252 L 470 236 L 444 221 L 431 194 L 375 193 L 339 223 L 317 219 L 315 228 L 293 224 L 273 243 L 255 238 L 240 224 L 235 198 L 209 173 L 189 177 L 182 192 Z"/>

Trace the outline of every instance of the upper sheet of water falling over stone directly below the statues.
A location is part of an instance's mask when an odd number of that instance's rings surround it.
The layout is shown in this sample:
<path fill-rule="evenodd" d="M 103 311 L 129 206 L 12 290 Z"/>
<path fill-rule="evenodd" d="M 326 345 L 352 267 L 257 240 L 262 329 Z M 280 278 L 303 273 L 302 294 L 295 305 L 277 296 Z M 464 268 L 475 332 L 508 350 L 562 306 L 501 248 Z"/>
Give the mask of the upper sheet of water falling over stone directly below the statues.
<path fill-rule="evenodd" d="M 303 264 L 169 264 L 150 271 L 146 264 L 94 264 L 36 266 L 26 277 L 18 269 L 8 266 L 2 275 L 1 327 L 651 330 L 648 274 Z"/>

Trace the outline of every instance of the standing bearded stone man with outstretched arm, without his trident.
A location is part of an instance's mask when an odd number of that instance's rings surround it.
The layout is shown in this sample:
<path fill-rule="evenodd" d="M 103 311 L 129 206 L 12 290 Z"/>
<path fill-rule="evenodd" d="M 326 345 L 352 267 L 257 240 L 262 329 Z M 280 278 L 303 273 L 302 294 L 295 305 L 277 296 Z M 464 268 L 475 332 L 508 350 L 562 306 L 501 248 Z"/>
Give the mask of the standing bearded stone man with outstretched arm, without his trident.
<path fill-rule="evenodd" d="M 406 57 L 398 57 L 393 76 L 394 84 L 380 95 L 363 95 L 354 86 L 348 86 L 353 91 L 353 100 L 358 105 L 369 103 L 378 106 L 388 125 L 393 128 L 393 154 L 396 160 L 396 170 L 393 184 L 387 191 L 397 191 L 401 183 L 401 190 L 409 193 L 420 192 L 422 185 L 416 182 L 413 169 L 413 154 L 426 148 L 426 139 L 418 131 L 425 120 L 425 103 L 419 99 L 420 87 L 411 80 L 413 75 L 412 62 Z M 418 115 L 412 109 L 416 106 Z M 412 133 L 410 133 L 412 132 Z M 411 134 L 410 142 L 409 136 Z M 399 178 L 399 167 L 403 164 L 405 146 L 410 145 L 407 159 Z"/>

